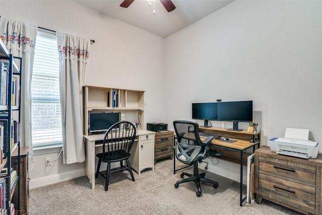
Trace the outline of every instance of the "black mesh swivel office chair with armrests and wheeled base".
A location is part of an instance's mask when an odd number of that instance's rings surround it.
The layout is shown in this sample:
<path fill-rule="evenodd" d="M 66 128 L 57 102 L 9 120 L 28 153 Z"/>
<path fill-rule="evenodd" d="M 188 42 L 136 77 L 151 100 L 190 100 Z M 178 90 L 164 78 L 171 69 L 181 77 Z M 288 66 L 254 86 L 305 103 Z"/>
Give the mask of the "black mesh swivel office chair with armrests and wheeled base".
<path fill-rule="evenodd" d="M 216 181 L 204 178 L 206 173 L 199 174 L 198 172 L 198 162 L 201 163 L 203 159 L 217 153 L 216 151 L 209 152 L 209 146 L 214 136 L 208 136 L 201 142 L 198 123 L 191 121 L 174 121 L 173 125 L 177 135 L 177 141 L 174 147 L 176 158 L 184 164 L 193 164 L 194 166 L 193 174 L 181 173 L 180 176 L 182 178 L 185 175 L 189 176 L 189 178 L 177 181 L 175 187 L 178 188 L 181 183 L 194 181 L 198 189 L 196 195 L 200 197 L 202 195 L 200 182 L 213 184 L 214 188 L 218 187 Z"/>

